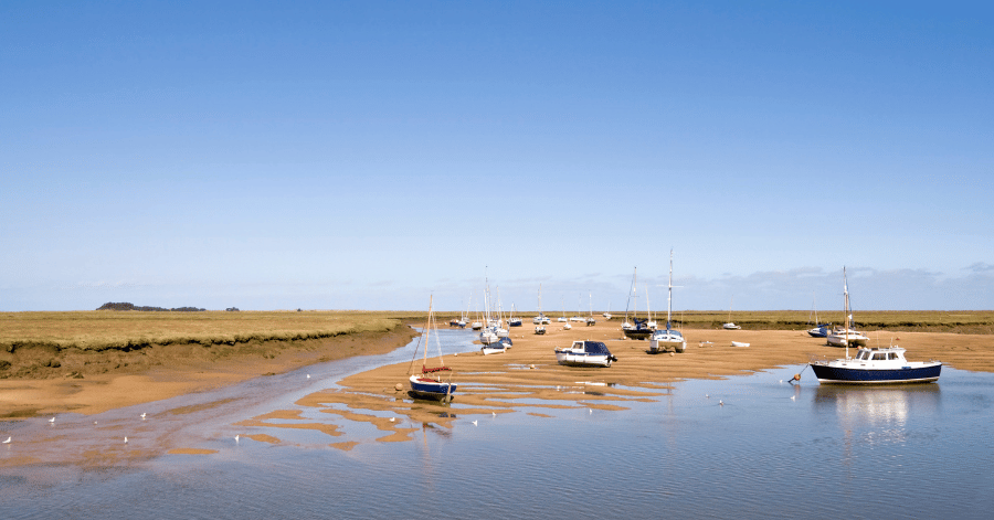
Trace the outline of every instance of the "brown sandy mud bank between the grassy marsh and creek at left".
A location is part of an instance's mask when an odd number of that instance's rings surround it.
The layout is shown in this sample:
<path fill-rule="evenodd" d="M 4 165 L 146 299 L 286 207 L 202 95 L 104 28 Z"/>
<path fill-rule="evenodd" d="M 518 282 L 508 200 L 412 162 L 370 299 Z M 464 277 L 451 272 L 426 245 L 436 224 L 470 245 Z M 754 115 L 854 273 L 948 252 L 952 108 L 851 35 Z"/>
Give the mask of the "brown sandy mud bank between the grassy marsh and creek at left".
<path fill-rule="evenodd" d="M 53 413 L 102 413 L 325 361 L 385 353 L 408 344 L 416 336 L 406 323 L 400 323 L 387 332 L 257 342 L 226 355 L 199 344 L 87 352 L 82 354 L 88 358 L 85 363 L 95 370 L 81 374 L 82 378 L 66 374 L 0 380 L 0 420 L 27 420 Z"/>

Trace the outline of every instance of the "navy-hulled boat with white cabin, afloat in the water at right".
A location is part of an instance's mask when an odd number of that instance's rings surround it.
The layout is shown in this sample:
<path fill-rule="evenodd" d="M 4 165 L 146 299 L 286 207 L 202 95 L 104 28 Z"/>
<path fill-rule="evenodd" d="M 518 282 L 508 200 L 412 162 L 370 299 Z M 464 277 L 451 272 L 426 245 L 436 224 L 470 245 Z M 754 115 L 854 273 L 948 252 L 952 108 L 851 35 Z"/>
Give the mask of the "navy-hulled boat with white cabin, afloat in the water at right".
<path fill-rule="evenodd" d="M 846 269 L 843 267 L 843 279 L 845 278 Z M 848 282 L 845 282 L 843 287 L 846 298 L 846 323 L 843 331 L 846 357 L 831 361 L 812 361 L 811 369 L 819 383 L 900 384 L 931 383 L 939 380 L 942 372 L 941 361 L 908 361 L 905 359 L 905 349 L 896 344 L 881 349 L 861 347 L 856 351 L 855 358 L 849 358 Z"/>

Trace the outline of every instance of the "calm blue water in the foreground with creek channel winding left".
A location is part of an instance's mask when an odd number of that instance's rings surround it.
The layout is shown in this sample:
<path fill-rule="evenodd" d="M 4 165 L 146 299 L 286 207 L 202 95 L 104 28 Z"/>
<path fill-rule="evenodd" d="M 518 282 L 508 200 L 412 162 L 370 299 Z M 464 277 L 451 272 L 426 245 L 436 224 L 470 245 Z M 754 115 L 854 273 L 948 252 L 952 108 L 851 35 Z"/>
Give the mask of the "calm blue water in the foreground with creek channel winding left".
<path fill-rule="evenodd" d="M 442 338 L 446 352 L 474 349 L 467 332 Z M 847 389 L 819 386 L 810 371 L 800 385 L 780 382 L 803 368 L 790 367 L 683 382 L 627 411 L 459 416 L 451 429 L 422 427 L 415 442 L 369 442 L 349 452 L 327 447 L 335 441 L 316 432 L 273 433 L 284 445 L 231 439 L 245 432 L 233 423 L 293 408 L 349 373 L 408 361 L 412 349 L 309 367 L 309 380 L 298 371 L 157 403 L 167 410 L 237 397 L 202 417 L 172 420 L 170 435 L 189 435 L 197 439 L 191 446 L 218 449 L 213 455 L 99 470 L 0 469 L 0 518 L 994 514 L 994 375 L 949 368 L 938 384 Z M 458 415 L 458 404 L 450 412 Z M 98 418 L 114 423 L 136 413 Z M 44 435 L 40 422 L 0 427 Z M 363 427 L 376 436 L 367 425 L 343 426 Z"/>

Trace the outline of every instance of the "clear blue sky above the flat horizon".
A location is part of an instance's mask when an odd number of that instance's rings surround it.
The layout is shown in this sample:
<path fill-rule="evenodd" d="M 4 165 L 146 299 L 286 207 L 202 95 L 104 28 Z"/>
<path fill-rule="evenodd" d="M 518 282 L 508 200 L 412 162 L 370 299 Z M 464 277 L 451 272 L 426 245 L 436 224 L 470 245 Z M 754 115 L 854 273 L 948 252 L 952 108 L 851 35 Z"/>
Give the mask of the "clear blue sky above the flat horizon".
<path fill-rule="evenodd" d="M 994 308 L 984 2 L 3 2 L 0 310 Z M 578 304 L 578 300 L 581 300 Z M 732 301 L 733 300 L 733 301 Z M 641 301 L 639 307 L 644 304 Z"/>

